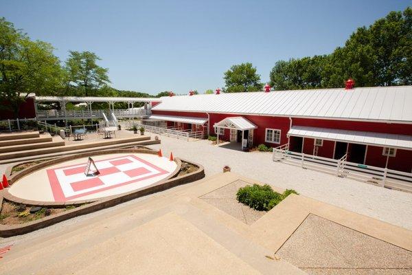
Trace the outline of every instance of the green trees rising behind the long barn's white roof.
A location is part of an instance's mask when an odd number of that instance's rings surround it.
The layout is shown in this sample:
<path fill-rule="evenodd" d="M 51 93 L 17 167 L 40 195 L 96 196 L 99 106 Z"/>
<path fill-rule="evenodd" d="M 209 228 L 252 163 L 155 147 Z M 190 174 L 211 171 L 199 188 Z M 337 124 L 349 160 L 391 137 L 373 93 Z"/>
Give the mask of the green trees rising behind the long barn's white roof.
<path fill-rule="evenodd" d="M 225 72 L 225 91 L 261 91 L 251 63 Z M 277 61 L 269 74 L 275 90 L 412 85 L 412 8 L 390 12 L 369 27 L 358 28 L 332 54 Z"/>

